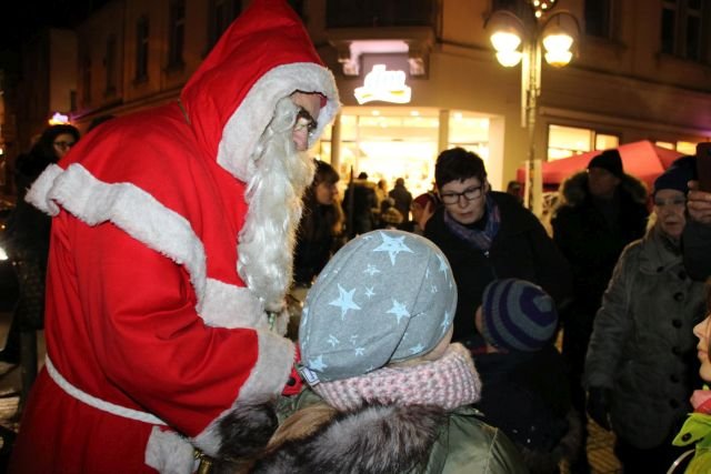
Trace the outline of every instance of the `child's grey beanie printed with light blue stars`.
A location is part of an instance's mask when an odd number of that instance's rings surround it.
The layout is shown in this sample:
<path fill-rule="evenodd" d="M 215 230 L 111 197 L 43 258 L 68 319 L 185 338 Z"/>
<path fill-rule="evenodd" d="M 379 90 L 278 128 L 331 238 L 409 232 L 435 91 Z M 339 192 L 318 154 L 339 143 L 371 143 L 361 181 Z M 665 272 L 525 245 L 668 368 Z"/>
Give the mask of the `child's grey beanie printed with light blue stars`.
<path fill-rule="evenodd" d="M 442 251 L 417 234 L 362 234 L 333 255 L 307 295 L 299 344 L 312 385 L 427 354 L 452 325 L 457 285 Z"/>

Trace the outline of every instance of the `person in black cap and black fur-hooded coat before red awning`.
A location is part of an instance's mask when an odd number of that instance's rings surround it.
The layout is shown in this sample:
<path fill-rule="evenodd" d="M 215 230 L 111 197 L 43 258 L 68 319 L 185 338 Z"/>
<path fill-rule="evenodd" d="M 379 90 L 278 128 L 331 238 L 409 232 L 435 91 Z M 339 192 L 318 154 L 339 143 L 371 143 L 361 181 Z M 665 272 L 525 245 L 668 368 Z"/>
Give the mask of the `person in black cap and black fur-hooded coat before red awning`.
<path fill-rule="evenodd" d="M 583 426 L 585 393 L 581 376 L 593 320 L 622 249 L 644 235 L 648 214 L 647 188 L 624 173 L 622 158 L 614 149 L 595 155 L 585 171 L 563 181 L 552 212 L 553 240 L 573 271 L 573 297 L 560 312 L 562 354 L 573 406 Z M 573 472 L 589 472 L 584 450 L 578 460 Z"/>

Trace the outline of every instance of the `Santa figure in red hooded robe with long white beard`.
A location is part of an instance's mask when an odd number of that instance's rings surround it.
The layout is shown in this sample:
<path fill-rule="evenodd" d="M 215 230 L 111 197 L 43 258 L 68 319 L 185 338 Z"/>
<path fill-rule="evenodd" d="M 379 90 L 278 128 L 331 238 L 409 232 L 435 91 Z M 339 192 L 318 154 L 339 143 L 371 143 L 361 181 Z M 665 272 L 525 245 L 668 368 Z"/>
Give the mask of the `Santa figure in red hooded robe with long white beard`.
<path fill-rule="evenodd" d="M 338 108 L 298 16 L 254 0 L 179 100 L 103 123 L 40 175 L 47 362 L 11 471 L 189 473 L 268 441 L 252 427 L 299 384 L 280 334 L 306 150 Z"/>

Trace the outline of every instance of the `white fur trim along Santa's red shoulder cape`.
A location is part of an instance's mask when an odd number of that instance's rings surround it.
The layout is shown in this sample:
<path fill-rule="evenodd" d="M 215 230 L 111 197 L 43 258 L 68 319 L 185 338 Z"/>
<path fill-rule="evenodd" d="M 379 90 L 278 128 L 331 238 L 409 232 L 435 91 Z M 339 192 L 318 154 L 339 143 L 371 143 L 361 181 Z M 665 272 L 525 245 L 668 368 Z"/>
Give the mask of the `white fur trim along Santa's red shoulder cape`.
<path fill-rule="evenodd" d="M 204 246 L 190 222 L 137 185 L 106 183 L 77 163 L 67 170 L 51 164 L 26 200 L 50 215 L 59 213 L 60 204 L 89 225 L 111 222 L 184 265 L 198 299 L 196 311 L 207 325 L 266 327 L 263 305 L 249 289 L 207 278 Z"/>

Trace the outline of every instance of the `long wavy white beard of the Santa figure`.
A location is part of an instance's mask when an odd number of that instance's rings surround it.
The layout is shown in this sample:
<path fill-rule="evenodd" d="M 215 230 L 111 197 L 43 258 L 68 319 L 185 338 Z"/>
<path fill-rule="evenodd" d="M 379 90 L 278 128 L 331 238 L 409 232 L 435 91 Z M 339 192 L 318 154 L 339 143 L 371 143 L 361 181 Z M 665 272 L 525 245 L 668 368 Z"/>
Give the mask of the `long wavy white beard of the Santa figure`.
<path fill-rule="evenodd" d="M 314 165 L 297 150 L 292 129 L 297 105 L 277 103 L 249 163 L 244 226 L 238 236 L 237 271 L 267 311 L 281 311 L 291 285 L 301 195 L 313 180 Z"/>

